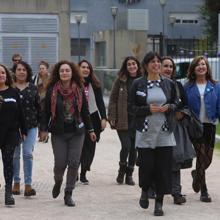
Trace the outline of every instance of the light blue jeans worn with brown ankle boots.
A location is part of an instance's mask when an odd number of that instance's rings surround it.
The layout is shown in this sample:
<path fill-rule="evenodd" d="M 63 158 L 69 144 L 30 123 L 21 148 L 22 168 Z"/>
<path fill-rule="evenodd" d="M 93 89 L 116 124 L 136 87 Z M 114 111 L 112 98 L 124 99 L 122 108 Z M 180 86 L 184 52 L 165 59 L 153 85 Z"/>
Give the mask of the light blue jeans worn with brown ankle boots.
<path fill-rule="evenodd" d="M 26 139 L 15 148 L 13 158 L 14 182 L 20 183 L 20 155 L 21 147 L 23 151 L 24 183 L 32 183 L 33 150 L 37 138 L 37 127 L 28 130 Z"/>

